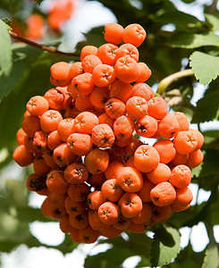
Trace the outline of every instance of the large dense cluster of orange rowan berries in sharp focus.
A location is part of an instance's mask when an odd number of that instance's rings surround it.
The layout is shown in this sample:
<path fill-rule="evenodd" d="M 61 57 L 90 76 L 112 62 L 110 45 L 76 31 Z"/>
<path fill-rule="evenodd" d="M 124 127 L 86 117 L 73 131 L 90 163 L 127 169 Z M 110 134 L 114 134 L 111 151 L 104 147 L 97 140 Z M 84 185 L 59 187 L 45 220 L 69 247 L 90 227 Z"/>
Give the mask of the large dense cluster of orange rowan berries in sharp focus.
<path fill-rule="evenodd" d="M 145 30 L 109 23 L 104 34 L 108 43 L 84 46 L 80 62 L 51 66 L 55 88 L 29 99 L 13 154 L 33 163 L 27 187 L 46 196 L 42 213 L 84 243 L 141 233 L 187 209 L 190 168 L 203 160 L 202 134 L 145 83 Z"/>

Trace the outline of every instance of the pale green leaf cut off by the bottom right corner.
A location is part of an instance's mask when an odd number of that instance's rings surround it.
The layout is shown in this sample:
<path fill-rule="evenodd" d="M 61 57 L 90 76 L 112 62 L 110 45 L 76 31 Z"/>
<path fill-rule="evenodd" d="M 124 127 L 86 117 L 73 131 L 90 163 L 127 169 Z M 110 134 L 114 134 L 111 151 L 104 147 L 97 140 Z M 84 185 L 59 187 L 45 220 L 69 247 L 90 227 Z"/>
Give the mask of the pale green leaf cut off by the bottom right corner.
<path fill-rule="evenodd" d="M 218 268 L 219 253 L 216 244 L 210 243 L 206 248 L 204 263 L 201 268 Z"/>

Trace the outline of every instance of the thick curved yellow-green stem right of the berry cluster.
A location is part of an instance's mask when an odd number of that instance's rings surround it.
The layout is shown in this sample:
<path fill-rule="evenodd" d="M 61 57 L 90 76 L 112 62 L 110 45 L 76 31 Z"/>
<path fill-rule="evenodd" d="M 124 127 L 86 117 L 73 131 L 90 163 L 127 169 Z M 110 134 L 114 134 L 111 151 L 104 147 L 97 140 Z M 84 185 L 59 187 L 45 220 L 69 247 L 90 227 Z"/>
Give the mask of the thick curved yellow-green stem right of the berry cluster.
<path fill-rule="evenodd" d="M 168 88 L 170 86 L 170 84 L 173 83 L 174 80 L 178 80 L 178 79 L 183 78 L 183 77 L 194 75 L 194 73 L 195 72 L 192 71 L 191 69 L 186 69 L 183 71 L 175 72 L 175 73 L 165 77 L 164 80 L 160 81 L 156 92 L 159 95 L 163 95 L 166 88 Z"/>

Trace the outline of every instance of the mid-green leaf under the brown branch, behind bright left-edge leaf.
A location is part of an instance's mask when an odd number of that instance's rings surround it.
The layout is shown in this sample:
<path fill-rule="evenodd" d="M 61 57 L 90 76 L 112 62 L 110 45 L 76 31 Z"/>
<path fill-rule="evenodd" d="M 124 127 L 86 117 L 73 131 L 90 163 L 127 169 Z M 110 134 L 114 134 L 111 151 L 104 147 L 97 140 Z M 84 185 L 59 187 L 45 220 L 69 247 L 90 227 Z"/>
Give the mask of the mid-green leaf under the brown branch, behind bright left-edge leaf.
<path fill-rule="evenodd" d="M 0 102 L 4 96 L 7 96 L 13 90 L 24 76 L 25 71 L 29 70 L 31 65 L 38 59 L 38 56 L 42 54 L 40 49 L 22 44 L 14 44 L 12 51 L 13 69 L 8 77 L 0 77 Z"/>

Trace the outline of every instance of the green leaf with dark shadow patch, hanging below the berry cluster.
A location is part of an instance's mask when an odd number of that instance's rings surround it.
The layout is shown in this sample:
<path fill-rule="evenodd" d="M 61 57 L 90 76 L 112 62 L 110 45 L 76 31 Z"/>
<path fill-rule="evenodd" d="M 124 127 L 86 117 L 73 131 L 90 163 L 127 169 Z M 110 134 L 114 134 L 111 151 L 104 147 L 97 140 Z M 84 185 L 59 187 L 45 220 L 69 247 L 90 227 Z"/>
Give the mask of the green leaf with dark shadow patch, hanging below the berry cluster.
<path fill-rule="evenodd" d="M 170 264 L 181 251 L 181 236 L 178 230 L 170 226 L 161 226 L 154 230 L 151 246 L 151 265 L 153 267 Z"/>

